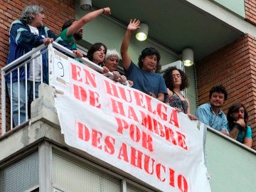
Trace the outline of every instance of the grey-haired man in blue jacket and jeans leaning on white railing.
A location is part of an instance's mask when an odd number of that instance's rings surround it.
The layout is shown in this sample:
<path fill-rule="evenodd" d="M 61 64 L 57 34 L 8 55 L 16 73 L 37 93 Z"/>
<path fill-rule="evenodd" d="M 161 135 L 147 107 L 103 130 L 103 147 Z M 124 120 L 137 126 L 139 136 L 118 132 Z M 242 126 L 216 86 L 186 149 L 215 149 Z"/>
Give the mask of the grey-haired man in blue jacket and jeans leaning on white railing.
<path fill-rule="evenodd" d="M 43 8 L 37 5 L 26 6 L 21 14 L 21 17 L 11 23 L 11 28 L 9 31 L 9 55 L 7 59 L 7 65 L 14 60 L 20 58 L 25 53 L 28 53 L 33 48 L 41 46 L 42 44 L 48 45 L 53 43 L 53 41 L 60 43 L 60 45 L 70 48 L 68 44 L 62 41 L 61 38 L 50 31 L 49 28 L 43 25 L 45 15 L 43 13 Z M 81 58 L 82 53 L 78 50 L 73 50 L 76 57 Z M 33 65 L 31 65 L 33 63 Z M 43 82 L 48 82 L 48 61 L 47 55 L 43 54 L 37 57 L 33 62 L 28 63 L 27 67 L 27 77 L 25 68 L 19 68 L 14 70 L 11 75 L 6 77 L 9 97 L 11 96 L 11 86 L 12 86 L 12 110 L 14 117 L 14 125 L 17 126 L 22 122 L 26 121 L 26 94 L 28 95 L 28 107 L 33 100 L 33 79 L 36 81 L 35 85 L 35 95 L 38 97 L 38 85 L 41 83 L 41 63 L 43 64 Z M 16 67 L 16 66 L 15 66 Z M 34 73 L 33 73 L 34 72 Z M 18 75 L 19 80 L 18 82 Z M 12 77 L 12 85 L 10 78 Z M 26 93 L 26 80 L 27 81 L 27 93 Z M 18 109 L 18 83 L 20 84 L 20 108 Z M 20 110 L 20 119 L 18 119 L 18 110 Z M 29 115 L 29 114 L 28 114 Z M 19 120 L 19 121 L 18 121 Z"/>

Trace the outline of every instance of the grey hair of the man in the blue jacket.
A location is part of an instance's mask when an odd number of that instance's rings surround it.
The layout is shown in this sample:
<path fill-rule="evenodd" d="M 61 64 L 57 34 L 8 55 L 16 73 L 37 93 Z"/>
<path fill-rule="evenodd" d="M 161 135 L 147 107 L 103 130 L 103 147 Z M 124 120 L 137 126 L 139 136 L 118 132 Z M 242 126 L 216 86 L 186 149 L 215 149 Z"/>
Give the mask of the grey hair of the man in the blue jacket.
<path fill-rule="evenodd" d="M 43 8 L 38 5 L 26 6 L 21 13 L 19 20 L 25 21 L 26 23 L 31 23 L 35 18 L 36 14 L 42 14 Z"/>

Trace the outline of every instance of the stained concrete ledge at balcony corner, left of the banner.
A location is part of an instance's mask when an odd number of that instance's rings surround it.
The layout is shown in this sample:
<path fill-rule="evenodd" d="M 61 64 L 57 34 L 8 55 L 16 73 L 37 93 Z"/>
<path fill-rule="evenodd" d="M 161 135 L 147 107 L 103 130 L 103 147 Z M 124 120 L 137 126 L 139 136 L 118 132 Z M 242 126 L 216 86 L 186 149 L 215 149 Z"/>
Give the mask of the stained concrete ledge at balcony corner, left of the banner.
<path fill-rule="evenodd" d="M 54 107 L 54 93 L 53 87 L 40 85 L 39 97 L 31 103 L 31 119 L 0 137 L 0 165 L 9 157 L 43 139 L 65 145 Z"/>

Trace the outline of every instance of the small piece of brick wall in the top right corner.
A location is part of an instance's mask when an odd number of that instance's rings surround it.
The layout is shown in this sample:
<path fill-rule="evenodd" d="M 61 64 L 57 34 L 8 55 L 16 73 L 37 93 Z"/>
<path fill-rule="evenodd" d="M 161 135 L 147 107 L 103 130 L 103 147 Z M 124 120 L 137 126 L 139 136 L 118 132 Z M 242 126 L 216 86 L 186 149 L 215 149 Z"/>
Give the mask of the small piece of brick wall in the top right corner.
<path fill-rule="evenodd" d="M 256 25 L 256 1 L 245 0 L 245 19 Z"/>

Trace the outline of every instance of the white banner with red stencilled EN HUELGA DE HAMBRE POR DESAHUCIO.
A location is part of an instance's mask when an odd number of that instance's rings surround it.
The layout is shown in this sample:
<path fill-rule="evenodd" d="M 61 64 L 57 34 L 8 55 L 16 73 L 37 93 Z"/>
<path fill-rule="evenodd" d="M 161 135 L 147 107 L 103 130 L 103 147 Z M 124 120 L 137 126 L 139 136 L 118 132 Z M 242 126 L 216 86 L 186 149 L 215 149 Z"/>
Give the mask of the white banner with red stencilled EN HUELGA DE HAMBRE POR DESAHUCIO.
<path fill-rule="evenodd" d="M 55 107 L 66 144 L 161 191 L 210 191 L 203 124 L 57 50 L 52 58 L 50 85 L 60 92 Z"/>

